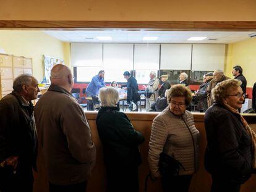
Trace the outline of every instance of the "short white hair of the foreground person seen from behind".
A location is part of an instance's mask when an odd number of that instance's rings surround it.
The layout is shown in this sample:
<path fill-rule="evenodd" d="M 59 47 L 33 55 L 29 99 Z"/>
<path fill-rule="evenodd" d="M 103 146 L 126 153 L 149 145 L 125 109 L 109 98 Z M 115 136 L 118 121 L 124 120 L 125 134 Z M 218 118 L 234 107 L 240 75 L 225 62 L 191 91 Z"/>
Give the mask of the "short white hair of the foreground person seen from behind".
<path fill-rule="evenodd" d="M 113 87 L 103 87 L 99 93 L 100 106 L 116 107 L 119 101 L 119 93 Z"/>

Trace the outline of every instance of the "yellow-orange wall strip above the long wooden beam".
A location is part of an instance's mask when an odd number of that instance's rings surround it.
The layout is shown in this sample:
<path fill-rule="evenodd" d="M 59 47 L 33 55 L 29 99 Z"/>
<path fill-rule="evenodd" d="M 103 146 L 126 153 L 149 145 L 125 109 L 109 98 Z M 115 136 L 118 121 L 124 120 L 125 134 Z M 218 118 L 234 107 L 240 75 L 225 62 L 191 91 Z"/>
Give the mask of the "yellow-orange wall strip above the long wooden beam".
<path fill-rule="evenodd" d="M 255 21 L 255 0 L 6 0 L 0 20 Z"/>

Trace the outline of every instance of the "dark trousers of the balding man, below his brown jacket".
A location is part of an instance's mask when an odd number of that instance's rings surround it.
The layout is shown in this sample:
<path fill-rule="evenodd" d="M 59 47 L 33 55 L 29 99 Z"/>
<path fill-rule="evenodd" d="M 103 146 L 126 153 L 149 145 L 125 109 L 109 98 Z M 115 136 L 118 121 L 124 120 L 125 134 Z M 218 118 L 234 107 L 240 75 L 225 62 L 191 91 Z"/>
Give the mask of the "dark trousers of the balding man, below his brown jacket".
<path fill-rule="evenodd" d="M 49 183 L 49 192 L 85 192 L 87 187 L 87 181 L 74 184 L 74 185 L 54 185 Z"/>

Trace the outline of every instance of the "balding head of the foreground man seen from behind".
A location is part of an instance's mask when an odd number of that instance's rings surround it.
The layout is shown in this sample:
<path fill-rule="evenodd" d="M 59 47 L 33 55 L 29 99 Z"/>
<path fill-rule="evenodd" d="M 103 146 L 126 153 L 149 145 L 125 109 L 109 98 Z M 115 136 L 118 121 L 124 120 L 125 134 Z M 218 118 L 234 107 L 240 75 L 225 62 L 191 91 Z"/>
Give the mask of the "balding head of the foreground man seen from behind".
<path fill-rule="evenodd" d="M 51 69 L 51 84 L 61 86 L 70 92 L 74 81 L 69 67 L 62 64 L 54 65 L 53 69 Z"/>

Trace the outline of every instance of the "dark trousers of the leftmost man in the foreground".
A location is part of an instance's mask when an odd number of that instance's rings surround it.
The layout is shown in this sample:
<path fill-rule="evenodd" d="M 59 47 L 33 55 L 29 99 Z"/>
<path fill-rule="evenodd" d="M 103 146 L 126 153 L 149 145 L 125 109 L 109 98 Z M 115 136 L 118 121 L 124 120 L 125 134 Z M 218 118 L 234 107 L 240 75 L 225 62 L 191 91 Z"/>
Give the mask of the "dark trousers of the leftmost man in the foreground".
<path fill-rule="evenodd" d="M 33 191 L 33 172 L 32 167 L 17 167 L 14 173 L 12 167 L 0 168 L 0 191 Z"/>

